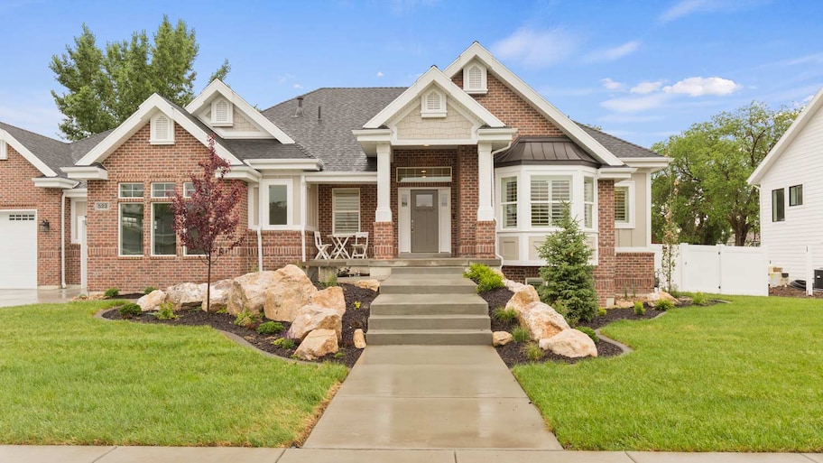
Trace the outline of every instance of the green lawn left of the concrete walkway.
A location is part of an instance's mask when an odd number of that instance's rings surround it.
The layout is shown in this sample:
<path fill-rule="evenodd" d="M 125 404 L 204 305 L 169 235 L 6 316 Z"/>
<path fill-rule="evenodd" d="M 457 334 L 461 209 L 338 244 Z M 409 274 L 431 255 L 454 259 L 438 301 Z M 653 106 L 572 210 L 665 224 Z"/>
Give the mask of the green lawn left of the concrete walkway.
<path fill-rule="evenodd" d="M 0 443 L 289 446 L 347 375 L 210 328 L 91 316 L 115 304 L 0 309 Z"/>

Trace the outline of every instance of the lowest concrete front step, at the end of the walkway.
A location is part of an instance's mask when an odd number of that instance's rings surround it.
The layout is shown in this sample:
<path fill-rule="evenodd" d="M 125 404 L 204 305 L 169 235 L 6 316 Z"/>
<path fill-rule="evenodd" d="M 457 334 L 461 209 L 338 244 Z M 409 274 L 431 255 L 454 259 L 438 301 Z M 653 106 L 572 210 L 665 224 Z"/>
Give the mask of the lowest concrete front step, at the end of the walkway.
<path fill-rule="evenodd" d="M 425 346 L 490 346 L 490 329 L 372 329 L 365 335 L 366 342 L 374 346 L 425 345 Z"/>

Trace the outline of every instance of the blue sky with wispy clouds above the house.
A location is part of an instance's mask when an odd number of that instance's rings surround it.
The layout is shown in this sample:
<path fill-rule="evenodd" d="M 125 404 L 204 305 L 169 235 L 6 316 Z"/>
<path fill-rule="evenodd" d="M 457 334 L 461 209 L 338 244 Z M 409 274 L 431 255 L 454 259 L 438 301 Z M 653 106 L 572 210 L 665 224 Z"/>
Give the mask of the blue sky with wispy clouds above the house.
<path fill-rule="evenodd" d="M 56 137 L 51 55 L 81 23 L 102 44 L 153 32 L 162 14 L 197 32 L 196 91 L 228 59 L 227 83 L 261 108 L 320 87 L 408 86 L 473 41 L 560 111 L 643 146 L 823 87 L 818 0 L 0 0 L 0 121 Z"/>

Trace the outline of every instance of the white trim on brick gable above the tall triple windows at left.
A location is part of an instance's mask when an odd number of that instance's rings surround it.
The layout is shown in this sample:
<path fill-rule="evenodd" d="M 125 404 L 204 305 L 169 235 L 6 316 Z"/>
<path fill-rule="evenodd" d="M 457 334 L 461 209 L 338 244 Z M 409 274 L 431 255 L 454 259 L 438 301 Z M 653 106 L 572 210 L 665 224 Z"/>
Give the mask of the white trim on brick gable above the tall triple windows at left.
<path fill-rule="evenodd" d="M 123 124 L 119 125 L 111 134 L 108 134 L 108 136 L 88 152 L 88 154 L 80 158 L 75 165 L 88 166 L 95 162 L 106 161 L 106 158 L 111 153 L 114 153 L 121 144 L 124 144 L 126 140 L 137 133 L 143 125 L 149 123 L 158 111 L 168 116 L 175 124 L 186 129 L 186 131 L 197 138 L 200 143 L 208 145 L 209 134 L 200 128 L 199 125 L 192 122 L 188 116 L 180 113 L 171 103 L 155 93 L 143 101 L 143 104 L 137 108 L 137 111 L 132 116 L 129 116 Z M 243 163 L 240 162 L 234 154 L 229 153 L 226 147 L 221 144 L 215 144 L 215 151 L 218 156 L 227 160 L 229 164 L 238 165 Z"/>

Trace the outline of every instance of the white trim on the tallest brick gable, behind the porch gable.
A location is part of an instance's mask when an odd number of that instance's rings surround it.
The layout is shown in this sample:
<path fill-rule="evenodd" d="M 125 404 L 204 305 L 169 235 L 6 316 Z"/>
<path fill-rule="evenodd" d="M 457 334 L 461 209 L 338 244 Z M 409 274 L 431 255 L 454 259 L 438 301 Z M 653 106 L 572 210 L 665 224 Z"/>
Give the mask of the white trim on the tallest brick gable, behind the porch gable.
<path fill-rule="evenodd" d="M 485 68 L 495 74 L 497 79 L 500 79 L 504 84 L 512 88 L 514 93 L 529 102 L 542 116 L 549 119 L 554 125 L 557 125 L 560 130 L 569 136 L 572 140 L 586 148 L 590 153 L 594 154 L 600 162 L 610 166 L 623 165 L 617 157 L 606 150 L 602 144 L 587 134 L 577 124 L 575 124 L 568 116 L 559 111 L 558 108 L 552 106 L 546 98 L 541 97 L 533 88 L 523 82 L 519 77 L 506 68 L 494 55 L 483 48 L 478 42 L 474 42 L 467 48 L 466 51 L 460 54 L 457 60 L 448 65 L 443 72 L 448 78 L 453 78 L 458 72 L 462 72 L 463 68 L 472 60 L 479 60 L 485 65 Z"/>

